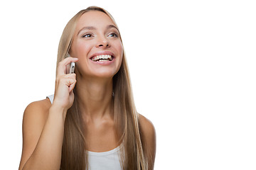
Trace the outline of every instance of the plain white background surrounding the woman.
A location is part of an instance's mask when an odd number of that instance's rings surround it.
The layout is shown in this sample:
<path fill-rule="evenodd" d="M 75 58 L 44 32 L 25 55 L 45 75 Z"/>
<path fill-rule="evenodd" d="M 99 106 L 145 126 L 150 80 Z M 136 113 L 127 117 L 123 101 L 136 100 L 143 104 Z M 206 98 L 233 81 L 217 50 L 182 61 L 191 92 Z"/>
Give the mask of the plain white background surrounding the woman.
<path fill-rule="evenodd" d="M 0 169 L 18 169 L 23 111 L 53 94 L 58 42 L 80 9 L 112 13 L 155 169 L 256 169 L 254 1 L 1 1 Z"/>

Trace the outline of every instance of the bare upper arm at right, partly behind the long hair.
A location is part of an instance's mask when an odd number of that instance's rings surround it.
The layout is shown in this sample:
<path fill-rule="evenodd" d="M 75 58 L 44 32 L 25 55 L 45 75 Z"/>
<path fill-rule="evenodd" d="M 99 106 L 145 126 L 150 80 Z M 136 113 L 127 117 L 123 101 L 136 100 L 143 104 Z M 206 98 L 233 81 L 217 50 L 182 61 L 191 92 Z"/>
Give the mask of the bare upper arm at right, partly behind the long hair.
<path fill-rule="evenodd" d="M 152 170 L 154 169 L 154 160 L 156 157 L 156 130 L 153 123 L 143 115 L 139 115 L 139 123 L 146 148 L 146 159 L 149 162 L 149 170 Z"/>

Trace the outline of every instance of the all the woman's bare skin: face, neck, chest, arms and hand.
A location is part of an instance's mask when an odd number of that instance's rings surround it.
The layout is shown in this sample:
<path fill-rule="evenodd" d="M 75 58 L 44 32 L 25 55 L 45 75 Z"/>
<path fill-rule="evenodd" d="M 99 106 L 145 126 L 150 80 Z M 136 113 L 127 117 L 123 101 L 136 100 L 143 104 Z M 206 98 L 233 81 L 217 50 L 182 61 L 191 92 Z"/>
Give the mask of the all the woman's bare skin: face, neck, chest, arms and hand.
<path fill-rule="evenodd" d="M 92 62 L 97 52 L 112 52 L 111 64 Z M 112 77 L 122 63 L 119 30 L 100 11 L 84 13 L 75 30 L 71 57 L 58 64 L 53 104 L 46 98 L 29 104 L 23 115 L 23 150 L 19 169 L 60 169 L 65 115 L 74 100 L 76 86 L 92 152 L 106 152 L 119 144 L 114 134 Z M 65 74 L 66 65 L 76 62 L 75 73 Z M 154 125 L 139 115 L 149 153 L 155 157 Z M 106 142 L 107 141 L 107 142 Z M 153 169 L 153 166 L 149 169 Z"/>

